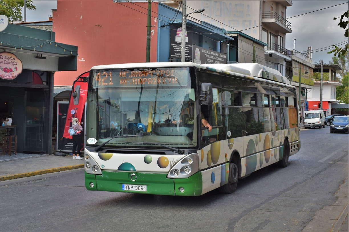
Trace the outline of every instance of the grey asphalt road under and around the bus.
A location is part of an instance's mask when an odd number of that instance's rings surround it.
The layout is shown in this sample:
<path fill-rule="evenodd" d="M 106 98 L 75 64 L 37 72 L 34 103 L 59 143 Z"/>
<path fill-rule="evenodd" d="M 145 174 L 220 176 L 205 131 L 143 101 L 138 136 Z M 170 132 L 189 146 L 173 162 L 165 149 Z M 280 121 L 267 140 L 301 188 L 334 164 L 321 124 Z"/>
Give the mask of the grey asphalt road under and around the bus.
<path fill-rule="evenodd" d="M 0 231 L 331 231 L 348 204 L 348 134 L 301 140 L 287 168 L 261 169 L 233 194 L 87 191 L 83 169 L 2 181 Z"/>

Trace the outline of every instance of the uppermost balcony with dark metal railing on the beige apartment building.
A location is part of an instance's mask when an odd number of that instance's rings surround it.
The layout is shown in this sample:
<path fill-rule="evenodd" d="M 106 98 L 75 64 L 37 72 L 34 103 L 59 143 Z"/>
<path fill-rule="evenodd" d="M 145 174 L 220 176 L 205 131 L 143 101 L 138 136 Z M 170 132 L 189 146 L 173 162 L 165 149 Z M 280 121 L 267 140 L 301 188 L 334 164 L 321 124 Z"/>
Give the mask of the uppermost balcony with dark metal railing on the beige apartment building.
<path fill-rule="evenodd" d="M 292 33 L 291 23 L 275 11 L 262 12 L 262 24 L 269 24 L 269 27 L 274 28 L 282 33 Z"/>

